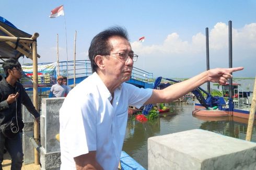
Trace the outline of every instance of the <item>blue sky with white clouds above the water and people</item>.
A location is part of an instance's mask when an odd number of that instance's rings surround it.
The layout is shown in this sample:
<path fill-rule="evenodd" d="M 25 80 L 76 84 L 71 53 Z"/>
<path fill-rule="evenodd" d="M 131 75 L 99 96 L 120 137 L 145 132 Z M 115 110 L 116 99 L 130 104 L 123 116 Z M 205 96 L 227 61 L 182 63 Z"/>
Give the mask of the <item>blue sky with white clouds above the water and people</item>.
<path fill-rule="evenodd" d="M 50 18 L 64 5 L 65 16 Z M 154 77 L 189 78 L 206 70 L 209 32 L 210 68 L 229 67 L 228 22 L 232 21 L 232 66 L 245 67 L 234 77 L 255 77 L 256 1 L 2 1 L 0 16 L 18 29 L 38 32 L 39 63 L 89 59 L 91 39 L 111 26 L 129 33 L 138 60 L 134 67 Z M 138 39 L 145 37 L 144 42 Z M 67 52 L 67 53 L 66 53 Z M 20 63 L 31 63 L 20 59 Z"/>

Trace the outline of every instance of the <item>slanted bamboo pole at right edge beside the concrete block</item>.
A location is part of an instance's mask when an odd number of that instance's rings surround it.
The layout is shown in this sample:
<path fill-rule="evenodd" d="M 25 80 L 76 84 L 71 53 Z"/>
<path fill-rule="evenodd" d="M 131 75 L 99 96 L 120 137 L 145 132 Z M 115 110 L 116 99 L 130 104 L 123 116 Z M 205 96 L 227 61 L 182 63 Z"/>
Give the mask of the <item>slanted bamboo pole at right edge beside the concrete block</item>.
<path fill-rule="evenodd" d="M 256 109 L 256 76 L 255 76 L 255 81 L 254 81 L 251 110 L 250 110 L 250 115 L 249 115 L 249 119 L 248 119 L 248 127 L 247 127 L 247 132 L 246 132 L 246 140 L 247 141 L 251 141 L 255 109 Z"/>

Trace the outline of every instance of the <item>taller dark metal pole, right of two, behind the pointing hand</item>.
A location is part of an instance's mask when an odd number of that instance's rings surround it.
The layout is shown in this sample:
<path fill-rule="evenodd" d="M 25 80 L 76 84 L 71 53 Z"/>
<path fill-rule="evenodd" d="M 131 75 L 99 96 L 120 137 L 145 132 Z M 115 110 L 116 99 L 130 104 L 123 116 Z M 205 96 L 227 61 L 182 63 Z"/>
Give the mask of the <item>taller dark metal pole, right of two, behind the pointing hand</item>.
<path fill-rule="evenodd" d="M 228 21 L 228 56 L 229 56 L 229 68 L 232 68 L 232 21 Z M 231 72 L 232 75 L 232 72 Z M 229 79 L 229 111 L 233 111 L 233 92 L 232 92 L 232 78 Z"/>

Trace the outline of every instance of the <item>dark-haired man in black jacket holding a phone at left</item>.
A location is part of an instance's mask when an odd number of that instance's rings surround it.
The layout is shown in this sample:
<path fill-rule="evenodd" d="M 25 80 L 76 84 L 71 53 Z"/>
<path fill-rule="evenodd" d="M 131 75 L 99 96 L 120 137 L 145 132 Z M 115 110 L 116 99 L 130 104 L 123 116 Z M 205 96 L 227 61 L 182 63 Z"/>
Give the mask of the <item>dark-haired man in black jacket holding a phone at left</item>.
<path fill-rule="evenodd" d="M 39 122 L 40 114 L 34 108 L 28 94 L 18 81 L 21 74 L 21 65 L 16 59 L 6 60 L 2 67 L 6 77 L 0 81 L 0 126 L 9 122 L 16 116 L 21 118 L 21 104 L 24 104 L 28 111 Z M 11 169 L 21 169 L 23 162 L 22 129 L 17 132 L 14 138 L 7 138 L 0 130 L 0 169 L 2 169 L 4 148 L 8 151 L 11 157 Z"/>

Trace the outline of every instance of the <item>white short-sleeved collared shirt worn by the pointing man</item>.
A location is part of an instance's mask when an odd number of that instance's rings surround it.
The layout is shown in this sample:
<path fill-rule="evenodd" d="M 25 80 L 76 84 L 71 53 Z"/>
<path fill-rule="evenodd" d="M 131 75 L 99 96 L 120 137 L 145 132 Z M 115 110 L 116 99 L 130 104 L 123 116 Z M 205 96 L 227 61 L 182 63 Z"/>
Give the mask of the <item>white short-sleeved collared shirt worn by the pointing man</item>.
<path fill-rule="evenodd" d="M 96 151 L 104 169 L 117 169 L 120 161 L 128 106 L 141 107 L 152 89 L 122 83 L 112 96 L 95 72 L 80 82 L 60 109 L 61 169 L 76 169 L 74 157 Z"/>

